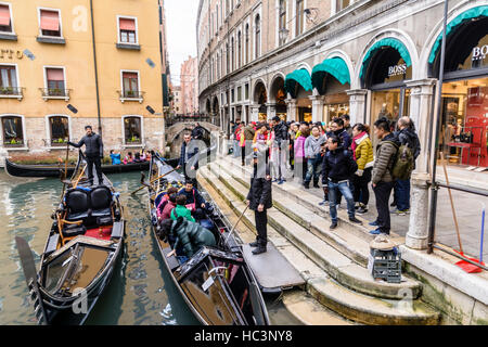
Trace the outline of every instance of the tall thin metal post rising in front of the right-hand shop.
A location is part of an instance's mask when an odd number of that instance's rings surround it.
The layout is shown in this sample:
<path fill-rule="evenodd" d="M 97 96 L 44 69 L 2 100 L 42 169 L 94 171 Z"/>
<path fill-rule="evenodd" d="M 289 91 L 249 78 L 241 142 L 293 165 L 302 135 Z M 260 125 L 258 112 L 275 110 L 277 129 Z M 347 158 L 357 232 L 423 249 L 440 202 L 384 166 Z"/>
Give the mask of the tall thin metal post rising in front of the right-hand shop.
<path fill-rule="evenodd" d="M 432 254 L 434 252 L 434 235 L 436 229 L 436 210 L 437 210 L 437 191 L 438 187 L 436 183 L 436 171 L 437 171 L 437 139 L 439 134 L 439 127 L 442 112 L 442 85 L 444 85 L 444 67 L 446 60 L 446 31 L 447 31 L 447 17 L 449 12 L 449 0 L 445 0 L 444 2 L 444 27 L 442 27 L 442 46 L 440 48 L 440 65 L 439 65 L 439 80 L 437 83 L 437 112 L 436 112 L 436 129 L 434 133 L 434 155 L 431 159 L 434 162 L 432 165 L 432 202 L 429 206 L 429 224 L 428 224 L 428 244 L 427 244 L 427 254 Z M 433 123 L 431 123 L 433 124 Z M 432 133 L 432 132 L 431 132 Z"/>

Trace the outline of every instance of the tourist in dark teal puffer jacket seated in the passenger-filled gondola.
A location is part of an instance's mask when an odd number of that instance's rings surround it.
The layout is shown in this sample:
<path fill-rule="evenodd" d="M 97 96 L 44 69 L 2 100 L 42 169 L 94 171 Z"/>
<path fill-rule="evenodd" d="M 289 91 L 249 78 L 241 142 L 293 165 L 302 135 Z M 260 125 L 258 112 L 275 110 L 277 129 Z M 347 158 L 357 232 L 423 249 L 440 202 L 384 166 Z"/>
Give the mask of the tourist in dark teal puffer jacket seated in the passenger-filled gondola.
<path fill-rule="evenodd" d="M 179 217 L 177 220 L 164 220 L 160 224 L 159 239 L 168 240 L 170 243 L 172 240 L 175 241 L 172 245 L 174 250 L 167 255 L 168 258 L 175 254 L 190 258 L 200 248 L 216 245 L 211 231 L 182 217 Z M 184 262 L 187 259 L 181 260 Z"/>

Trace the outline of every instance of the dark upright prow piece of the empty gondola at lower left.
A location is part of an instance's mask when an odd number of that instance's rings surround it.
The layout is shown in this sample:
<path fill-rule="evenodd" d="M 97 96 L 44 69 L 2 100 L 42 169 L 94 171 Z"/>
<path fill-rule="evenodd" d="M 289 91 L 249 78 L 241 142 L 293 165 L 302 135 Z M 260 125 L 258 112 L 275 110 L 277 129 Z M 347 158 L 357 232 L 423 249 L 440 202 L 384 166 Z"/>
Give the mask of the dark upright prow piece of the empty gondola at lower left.
<path fill-rule="evenodd" d="M 25 239 L 15 236 L 18 256 L 21 257 L 22 269 L 24 270 L 25 281 L 29 291 L 29 296 L 34 300 L 35 314 L 39 324 L 48 324 L 42 297 L 40 296 L 39 287 L 37 285 L 37 272 L 34 264 L 33 250 L 25 241 Z"/>

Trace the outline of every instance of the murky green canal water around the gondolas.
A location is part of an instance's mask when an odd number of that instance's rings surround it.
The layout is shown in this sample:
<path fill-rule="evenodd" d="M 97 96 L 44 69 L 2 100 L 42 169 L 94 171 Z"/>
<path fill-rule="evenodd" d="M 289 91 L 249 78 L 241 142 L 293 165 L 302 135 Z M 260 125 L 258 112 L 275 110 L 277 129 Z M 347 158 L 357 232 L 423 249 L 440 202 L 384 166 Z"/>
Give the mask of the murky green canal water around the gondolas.
<path fill-rule="evenodd" d="M 193 325 L 198 321 L 171 282 L 151 234 L 146 191 L 136 196 L 140 174 L 108 176 L 125 206 L 127 239 L 121 261 L 86 324 Z M 0 169 L 0 324 L 36 324 L 15 246 L 27 240 L 36 268 L 51 228 L 62 184 L 59 179 L 21 179 Z M 281 301 L 267 298 L 273 324 L 298 324 Z"/>

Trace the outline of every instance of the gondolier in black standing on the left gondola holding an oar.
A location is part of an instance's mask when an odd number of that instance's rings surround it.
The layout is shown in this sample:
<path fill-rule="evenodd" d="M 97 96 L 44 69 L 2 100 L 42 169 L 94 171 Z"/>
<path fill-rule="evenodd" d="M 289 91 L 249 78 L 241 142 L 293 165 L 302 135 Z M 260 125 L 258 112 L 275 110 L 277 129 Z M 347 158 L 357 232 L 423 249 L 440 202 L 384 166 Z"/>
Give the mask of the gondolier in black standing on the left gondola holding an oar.
<path fill-rule="evenodd" d="M 81 138 L 78 143 L 67 142 L 68 145 L 73 145 L 77 149 L 85 144 L 85 156 L 87 158 L 88 166 L 88 180 L 90 185 L 93 185 L 93 164 L 97 170 L 97 177 L 99 178 L 99 184 L 103 182 L 102 176 L 102 158 L 103 158 L 103 142 L 102 138 L 93 132 L 91 126 L 86 126 L 85 130 L 87 134 Z"/>

